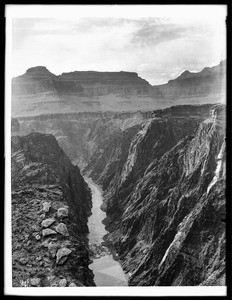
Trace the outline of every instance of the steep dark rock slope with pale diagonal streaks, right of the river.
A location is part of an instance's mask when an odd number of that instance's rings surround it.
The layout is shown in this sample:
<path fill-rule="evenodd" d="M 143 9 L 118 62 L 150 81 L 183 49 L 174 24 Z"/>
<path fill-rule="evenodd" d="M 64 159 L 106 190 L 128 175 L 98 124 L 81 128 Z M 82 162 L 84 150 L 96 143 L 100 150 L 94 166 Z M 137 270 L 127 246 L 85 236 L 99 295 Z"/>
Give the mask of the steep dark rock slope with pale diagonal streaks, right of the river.
<path fill-rule="evenodd" d="M 110 185 L 96 169 L 130 285 L 225 284 L 224 109 L 147 121 Z"/>

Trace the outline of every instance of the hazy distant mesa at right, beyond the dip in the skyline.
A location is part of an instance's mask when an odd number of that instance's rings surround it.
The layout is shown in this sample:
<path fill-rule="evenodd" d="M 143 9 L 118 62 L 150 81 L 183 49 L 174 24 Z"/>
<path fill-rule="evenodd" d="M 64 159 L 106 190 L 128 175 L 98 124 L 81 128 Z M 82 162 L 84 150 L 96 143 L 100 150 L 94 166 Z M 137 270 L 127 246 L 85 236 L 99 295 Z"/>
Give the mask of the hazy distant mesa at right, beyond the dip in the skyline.
<path fill-rule="evenodd" d="M 161 99 L 225 94 L 226 60 L 218 66 L 204 68 L 201 72 L 184 71 L 168 83 L 152 87 L 152 96 Z"/>

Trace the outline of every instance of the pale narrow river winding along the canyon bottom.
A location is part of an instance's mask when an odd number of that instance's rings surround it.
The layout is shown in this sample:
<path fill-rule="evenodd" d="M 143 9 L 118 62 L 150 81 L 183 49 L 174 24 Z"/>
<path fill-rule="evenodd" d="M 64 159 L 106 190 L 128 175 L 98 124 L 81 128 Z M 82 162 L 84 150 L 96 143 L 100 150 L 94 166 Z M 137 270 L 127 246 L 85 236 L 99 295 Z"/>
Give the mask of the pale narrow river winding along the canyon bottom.
<path fill-rule="evenodd" d="M 93 271 L 96 286 L 127 286 L 127 275 L 124 273 L 115 255 L 104 245 L 103 237 L 107 234 L 102 221 L 106 213 L 101 210 L 103 202 L 102 190 L 91 179 L 85 178 L 92 191 L 92 215 L 88 219 L 89 245 L 93 253 L 92 264 L 89 268 Z"/>

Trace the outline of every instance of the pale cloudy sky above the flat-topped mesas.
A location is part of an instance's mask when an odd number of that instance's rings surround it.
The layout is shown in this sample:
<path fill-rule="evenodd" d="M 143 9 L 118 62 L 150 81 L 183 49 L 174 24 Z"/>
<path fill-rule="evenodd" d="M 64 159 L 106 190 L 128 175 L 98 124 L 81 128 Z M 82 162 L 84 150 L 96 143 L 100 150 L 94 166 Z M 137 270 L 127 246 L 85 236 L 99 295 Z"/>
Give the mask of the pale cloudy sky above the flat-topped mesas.
<path fill-rule="evenodd" d="M 153 5 L 146 13 L 136 6 L 119 8 L 109 13 L 100 5 L 83 14 L 71 6 L 61 8 L 63 14 L 55 7 L 53 14 L 35 13 L 35 8 L 28 15 L 20 9 L 8 13 L 12 76 L 34 66 L 46 66 L 56 75 L 131 71 L 156 85 L 226 58 L 226 6 Z"/>

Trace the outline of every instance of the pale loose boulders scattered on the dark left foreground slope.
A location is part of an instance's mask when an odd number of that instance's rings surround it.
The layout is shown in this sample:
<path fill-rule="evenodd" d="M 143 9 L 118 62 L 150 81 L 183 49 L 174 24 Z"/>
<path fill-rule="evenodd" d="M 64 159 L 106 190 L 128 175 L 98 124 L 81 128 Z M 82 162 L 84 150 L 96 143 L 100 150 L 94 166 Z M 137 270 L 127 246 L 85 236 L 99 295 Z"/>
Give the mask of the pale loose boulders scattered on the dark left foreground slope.
<path fill-rule="evenodd" d="M 68 248 L 71 245 L 71 242 L 66 240 L 66 237 L 69 236 L 69 232 L 64 223 L 69 217 L 69 209 L 67 207 L 60 207 L 57 209 L 52 207 L 51 202 L 43 202 L 42 211 L 44 213 L 40 215 L 41 226 L 34 224 L 31 226 L 31 229 L 34 231 L 32 233 L 34 240 L 36 242 L 41 242 L 42 239 L 41 245 L 42 247 L 47 248 L 49 253 L 48 257 L 42 258 L 41 256 L 37 256 L 35 261 L 39 266 L 46 267 L 49 271 L 52 264 L 56 264 L 57 266 L 64 265 L 72 253 L 72 250 Z M 47 218 L 46 215 L 48 215 Z M 26 236 L 25 238 L 28 239 L 29 236 Z M 28 241 L 28 243 L 30 244 L 31 242 Z M 28 261 L 29 260 L 25 257 L 22 257 L 19 260 L 21 265 L 29 266 Z M 31 275 L 33 275 L 33 273 Z M 47 285 L 56 287 L 83 286 L 82 283 L 78 281 L 74 283 L 70 278 L 60 279 L 60 277 L 54 275 L 47 276 L 46 282 Z M 21 286 L 40 287 L 43 286 L 43 281 L 38 277 L 38 274 L 34 273 L 33 278 L 21 280 Z"/>

